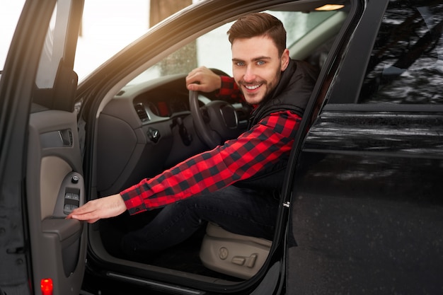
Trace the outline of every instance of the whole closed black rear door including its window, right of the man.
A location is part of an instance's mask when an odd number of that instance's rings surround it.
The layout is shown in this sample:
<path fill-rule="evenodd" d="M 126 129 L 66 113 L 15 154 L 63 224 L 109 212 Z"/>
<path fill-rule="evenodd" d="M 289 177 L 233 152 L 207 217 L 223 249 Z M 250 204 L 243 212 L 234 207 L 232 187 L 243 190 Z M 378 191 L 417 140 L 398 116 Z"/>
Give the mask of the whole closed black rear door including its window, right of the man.
<path fill-rule="evenodd" d="M 442 16 L 366 4 L 300 147 L 289 294 L 441 294 Z"/>

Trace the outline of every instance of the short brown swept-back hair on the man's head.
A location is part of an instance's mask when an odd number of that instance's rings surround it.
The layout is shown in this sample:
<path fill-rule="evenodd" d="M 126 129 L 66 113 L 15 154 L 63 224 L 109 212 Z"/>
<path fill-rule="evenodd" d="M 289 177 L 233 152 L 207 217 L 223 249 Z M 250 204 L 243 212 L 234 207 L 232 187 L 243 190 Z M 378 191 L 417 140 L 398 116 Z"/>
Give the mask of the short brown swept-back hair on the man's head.
<path fill-rule="evenodd" d="M 268 13 L 252 13 L 238 18 L 228 30 L 229 42 L 236 39 L 258 36 L 270 37 L 275 43 L 279 54 L 286 49 L 286 30 L 282 22 Z"/>

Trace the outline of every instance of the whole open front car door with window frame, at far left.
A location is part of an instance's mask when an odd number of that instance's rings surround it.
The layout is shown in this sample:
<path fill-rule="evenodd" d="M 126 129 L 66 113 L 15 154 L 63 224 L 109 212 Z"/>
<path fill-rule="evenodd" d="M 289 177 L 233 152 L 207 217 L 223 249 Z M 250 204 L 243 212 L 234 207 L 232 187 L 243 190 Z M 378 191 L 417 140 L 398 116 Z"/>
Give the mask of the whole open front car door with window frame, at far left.
<path fill-rule="evenodd" d="M 85 229 L 65 217 L 84 201 L 73 71 L 82 10 L 82 0 L 26 1 L 1 74 L 0 294 L 81 288 Z"/>

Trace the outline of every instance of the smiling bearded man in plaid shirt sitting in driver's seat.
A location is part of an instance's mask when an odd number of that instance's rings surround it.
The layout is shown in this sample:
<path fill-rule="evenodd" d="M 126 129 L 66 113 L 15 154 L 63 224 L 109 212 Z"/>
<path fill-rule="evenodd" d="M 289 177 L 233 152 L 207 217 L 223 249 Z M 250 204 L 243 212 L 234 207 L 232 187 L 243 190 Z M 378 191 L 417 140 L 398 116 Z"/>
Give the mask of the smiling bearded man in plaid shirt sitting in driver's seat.
<path fill-rule="evenodd" d="M 238 19 L 228 35 L 235 83 L 204 67 L 191 71 L 186 83 L 193 91 L 220 88 L 220 97 L 241 92 L 255 108 L 248 131 L 120 194 L 92 200 L 67 218 L 95 222 L 164 207 L 122 238 L 122 250 L 131 256 L 176 245 L 207 221 L 272 239 L 276 192 L 316 77 L 307 64 L 289 58 L 286 31 L 267 13 Z"/>

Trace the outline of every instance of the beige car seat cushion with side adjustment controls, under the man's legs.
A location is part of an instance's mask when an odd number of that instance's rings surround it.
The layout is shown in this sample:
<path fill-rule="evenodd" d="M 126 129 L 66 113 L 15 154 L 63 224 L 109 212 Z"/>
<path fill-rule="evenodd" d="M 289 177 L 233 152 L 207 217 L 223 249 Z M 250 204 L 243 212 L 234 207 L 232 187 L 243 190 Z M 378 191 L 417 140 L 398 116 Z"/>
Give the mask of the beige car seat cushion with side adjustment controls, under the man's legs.
<path fill-rule="evenodd" d="M 249 279 L 260 270 L 269 253 L 271 241 L 241 236 L 209 223 L 200 249 L 200 259 L 210 270 Z"/>

